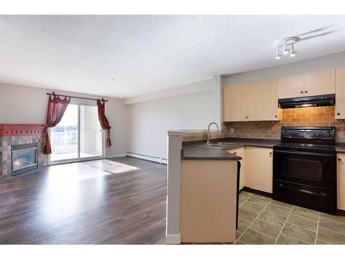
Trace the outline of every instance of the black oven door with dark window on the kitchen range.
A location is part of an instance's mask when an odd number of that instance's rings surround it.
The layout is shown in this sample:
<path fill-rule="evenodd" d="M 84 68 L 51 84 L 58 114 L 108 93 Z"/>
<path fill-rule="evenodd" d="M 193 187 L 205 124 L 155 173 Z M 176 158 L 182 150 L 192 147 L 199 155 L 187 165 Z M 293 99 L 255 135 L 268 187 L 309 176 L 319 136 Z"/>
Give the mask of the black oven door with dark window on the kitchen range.
<path fill-rule="evenodd" d="M 273 151 L 273 178 L 333 190 L 336 177 L 336 155 L 304 151 Z"/>

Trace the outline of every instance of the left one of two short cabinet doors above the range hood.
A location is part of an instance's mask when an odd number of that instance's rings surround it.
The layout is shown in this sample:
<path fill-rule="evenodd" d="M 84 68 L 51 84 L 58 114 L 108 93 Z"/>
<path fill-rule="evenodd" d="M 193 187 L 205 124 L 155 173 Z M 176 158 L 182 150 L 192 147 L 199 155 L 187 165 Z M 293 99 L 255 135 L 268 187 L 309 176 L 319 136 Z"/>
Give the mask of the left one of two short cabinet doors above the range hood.
<path fill-rule="evenodd" d="M 292 98 L 304 96 L 304 75 L 278 78 L 278 98 Z"/>

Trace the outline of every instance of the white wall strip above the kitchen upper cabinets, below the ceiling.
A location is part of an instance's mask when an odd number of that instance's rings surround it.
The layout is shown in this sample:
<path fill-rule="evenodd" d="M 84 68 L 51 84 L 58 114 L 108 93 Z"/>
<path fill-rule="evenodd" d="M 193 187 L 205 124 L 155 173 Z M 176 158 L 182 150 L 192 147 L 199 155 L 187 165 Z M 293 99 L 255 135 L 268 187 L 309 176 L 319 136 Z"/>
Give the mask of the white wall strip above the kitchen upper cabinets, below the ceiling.
<path fill-rule="evenodd" d="M 279 65 L 279 61 L 277 61 L 277 65 Z M 224 76 L 223 80 L 224 86 L 230 86 L 233 84 L 246 84 L 250 81 L 273 79 L 277 77 L 288 77 L 290 75 L 299 75 L 344 66 L 345 51 L 322 57 L 315 57 L 314 59 L 297 61 L 290 64 L 271 66 L 269 68 L 248 71 L 236 75 L 228 75 Z"/>

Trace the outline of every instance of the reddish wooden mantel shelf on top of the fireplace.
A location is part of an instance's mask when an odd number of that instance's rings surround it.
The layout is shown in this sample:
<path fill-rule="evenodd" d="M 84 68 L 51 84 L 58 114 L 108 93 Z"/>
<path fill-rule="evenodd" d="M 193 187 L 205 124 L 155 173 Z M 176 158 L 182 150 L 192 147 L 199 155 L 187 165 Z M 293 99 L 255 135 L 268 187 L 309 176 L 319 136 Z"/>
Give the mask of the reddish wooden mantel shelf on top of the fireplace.
<path fill-rule="evenodd" d="M 0 124 L 0 137 L 43 135 L 44 124 Z"/>

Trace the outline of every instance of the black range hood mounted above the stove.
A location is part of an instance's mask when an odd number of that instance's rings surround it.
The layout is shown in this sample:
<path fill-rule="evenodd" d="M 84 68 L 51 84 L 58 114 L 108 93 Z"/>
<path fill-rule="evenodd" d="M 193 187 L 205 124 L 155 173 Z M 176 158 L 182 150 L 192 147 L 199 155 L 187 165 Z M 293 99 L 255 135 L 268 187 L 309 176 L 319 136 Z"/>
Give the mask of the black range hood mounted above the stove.
<path fill-rule="evenodd" d="M 308 97 L 295 97 L 278 99 L 279 108 L 302 108 L 315 106 L 334 106 L 335 95 L 315 95 Z"/>

